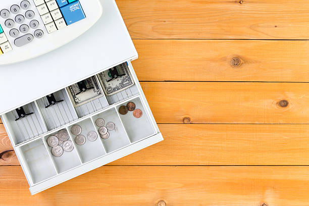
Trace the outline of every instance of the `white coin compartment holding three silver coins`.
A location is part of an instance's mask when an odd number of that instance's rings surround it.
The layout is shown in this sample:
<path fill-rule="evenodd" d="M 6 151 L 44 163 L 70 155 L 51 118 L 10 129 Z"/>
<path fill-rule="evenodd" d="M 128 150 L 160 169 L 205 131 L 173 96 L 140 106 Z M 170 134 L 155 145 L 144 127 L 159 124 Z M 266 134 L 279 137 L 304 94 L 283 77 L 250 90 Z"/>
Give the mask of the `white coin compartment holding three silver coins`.
<path fill-rule="evenodd" d="M 68 127 L 69 135 L 73 140 L 74 147 L 77 149 L 79 153 L 79 157 L 83 163 L 89 162 L 106 154 L 104 146 L 100 140 L 100 136 L 94 127 L 90 118 L 87 118 L 79 123 L 77 123 L 82 128 L 81 134 L 85 136 L 86 142 L 83 145 L 78 145 L 75 142 L 75 137 L 77 135 L 72 134 L 71 128 L 73 125 Z M 90 131 L 95 131 L 97 133 L 97 138 L 95 141 L 89 141 L 87 139 L 87 134 Z"/>

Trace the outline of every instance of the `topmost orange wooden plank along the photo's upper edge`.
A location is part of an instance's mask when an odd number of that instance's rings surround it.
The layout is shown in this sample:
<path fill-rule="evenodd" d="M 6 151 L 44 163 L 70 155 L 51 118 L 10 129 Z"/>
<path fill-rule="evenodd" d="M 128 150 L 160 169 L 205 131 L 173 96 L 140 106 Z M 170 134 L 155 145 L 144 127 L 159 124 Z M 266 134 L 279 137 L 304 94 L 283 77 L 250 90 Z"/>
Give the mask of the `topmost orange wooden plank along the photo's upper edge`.
<path fill-rule="evenodd" d="M 305 0 L 117 0 L 134 39 L 308 39 Z"/>

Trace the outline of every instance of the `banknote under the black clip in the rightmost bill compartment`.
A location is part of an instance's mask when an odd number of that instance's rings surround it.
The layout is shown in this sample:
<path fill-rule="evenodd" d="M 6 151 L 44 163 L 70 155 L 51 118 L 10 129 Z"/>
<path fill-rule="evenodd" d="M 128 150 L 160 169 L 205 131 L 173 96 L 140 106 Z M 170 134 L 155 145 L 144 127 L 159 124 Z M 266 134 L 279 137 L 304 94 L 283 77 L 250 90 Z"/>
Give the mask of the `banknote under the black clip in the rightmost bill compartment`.
<path fill-rule="evenodd" d="M 127 63 L 98 73 L 97 77 L 106 95 L 113 95 L 134 85 Z"/>

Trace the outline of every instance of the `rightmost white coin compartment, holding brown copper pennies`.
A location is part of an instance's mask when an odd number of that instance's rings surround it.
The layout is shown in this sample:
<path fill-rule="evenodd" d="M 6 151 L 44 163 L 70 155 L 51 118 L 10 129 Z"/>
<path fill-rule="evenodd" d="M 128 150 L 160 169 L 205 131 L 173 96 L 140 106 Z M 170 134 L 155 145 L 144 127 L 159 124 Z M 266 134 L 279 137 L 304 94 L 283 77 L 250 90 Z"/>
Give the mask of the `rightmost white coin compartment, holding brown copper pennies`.
<path fill-rule="evenodd" d="M 126 106 L 128 102 L 134 102 L 135 109 L 140 109 L 142 111 L 142 116 L 140 118 L 135 118 L 133 112 L 128 111 L 126 115 L 119 114 L 118 110 L 121 106 Z M 130 101 L 126 101 L 123 104 L 117 106 L 117 113 L 123 122 L 123 125 L 127 131 L 127 134 L 131 142 L 136 142 L 141 139 L 147 138 L 156 133 L 155 128 L 153 128 L 148 113 L 144 109 L 142 102 L 139 97 L 134 98 Z"/>

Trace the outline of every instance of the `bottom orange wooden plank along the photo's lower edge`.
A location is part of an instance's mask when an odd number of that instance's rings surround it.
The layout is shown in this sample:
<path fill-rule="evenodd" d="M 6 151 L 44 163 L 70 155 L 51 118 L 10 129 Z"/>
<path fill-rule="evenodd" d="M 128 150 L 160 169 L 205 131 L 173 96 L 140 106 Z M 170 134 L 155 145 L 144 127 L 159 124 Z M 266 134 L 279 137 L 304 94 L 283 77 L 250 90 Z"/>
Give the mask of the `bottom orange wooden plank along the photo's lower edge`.
<path fill-rule="evenodd" d="M 307 205 L 309 167 L 105 166 L 31 196 L 20 167 L 0 170 L 2 205 Z M 291 195 L 293 194 L 293 195 Z"/>

